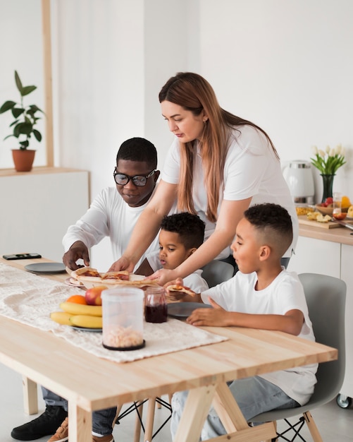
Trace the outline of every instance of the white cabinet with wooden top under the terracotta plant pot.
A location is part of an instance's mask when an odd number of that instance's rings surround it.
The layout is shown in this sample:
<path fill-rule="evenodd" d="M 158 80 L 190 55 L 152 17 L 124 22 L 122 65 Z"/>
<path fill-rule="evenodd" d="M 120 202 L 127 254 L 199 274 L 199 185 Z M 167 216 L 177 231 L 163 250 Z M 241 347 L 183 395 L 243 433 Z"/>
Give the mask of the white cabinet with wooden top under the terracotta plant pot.
<path fill-rule="evenodd" d="M 89 206 L 88 178 L 57 167 L 0 170 L 1 254 L 37 252 L 61 262 L 63 235 Z"/>

